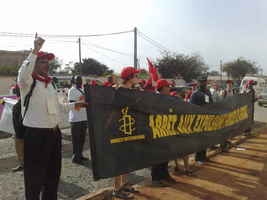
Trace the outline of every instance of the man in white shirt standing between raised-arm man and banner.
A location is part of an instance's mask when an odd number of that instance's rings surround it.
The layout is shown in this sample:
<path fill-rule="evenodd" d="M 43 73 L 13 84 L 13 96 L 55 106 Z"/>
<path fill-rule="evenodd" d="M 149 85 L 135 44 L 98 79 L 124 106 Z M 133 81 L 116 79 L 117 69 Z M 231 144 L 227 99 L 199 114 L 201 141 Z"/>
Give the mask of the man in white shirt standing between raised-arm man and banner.
<path fill-rule="evenodd" d="M 76 76 L 73 79 L 73 86 L 68 93 L 68 101 L 70 103 L 81 101 L 84 99 L 84 91 L 82 89 L 82 77 Z M 71 124 L 71 135 L 73 145 L 72 162 L 82 164 L 83 161 L 88 160 L 82 154 L 87 130 L 87 115 L 86 109 L 70 110 L 69 122 Z"/>

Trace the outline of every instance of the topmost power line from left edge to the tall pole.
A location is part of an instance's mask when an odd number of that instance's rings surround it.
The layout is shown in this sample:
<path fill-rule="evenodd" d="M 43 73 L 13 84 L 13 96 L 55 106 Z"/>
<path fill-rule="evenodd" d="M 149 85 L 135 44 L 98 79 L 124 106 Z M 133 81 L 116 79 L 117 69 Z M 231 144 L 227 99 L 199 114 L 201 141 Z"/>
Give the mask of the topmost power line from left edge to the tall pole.
<path fill-rule="evenodd" d="M 102 34 L 87 34 L 87 35 L 59 35 L 59 34 L 40 34 L 38 35 L 43 37 L 50 38 L 79 38 L 79 37 L 99 37 L 99 36 L 110 36 L 110 35 L 119 35 L 125 33 L 131 33 L 133 30 L 121 31 L 121 32 L 113 32 L 113 33 L 102 33 Z M 29 33 L 13 33 L 13 32 L 0 32 L 0 36 L 2 37 L 35 37 L 35 34 Z"/>

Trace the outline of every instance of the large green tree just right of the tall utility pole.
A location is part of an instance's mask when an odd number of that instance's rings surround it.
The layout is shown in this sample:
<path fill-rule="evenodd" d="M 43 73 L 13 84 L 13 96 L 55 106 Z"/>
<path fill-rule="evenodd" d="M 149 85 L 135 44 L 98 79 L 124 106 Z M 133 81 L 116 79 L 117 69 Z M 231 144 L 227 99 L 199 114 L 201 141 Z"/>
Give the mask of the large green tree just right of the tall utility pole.
<path fill-rule="evenodd" d="M 182 76 L 186 82 L 207 72 L 208 67 L 199 55 L 164 54 L 157 59 L 156 67 L 162 78 Z"/>

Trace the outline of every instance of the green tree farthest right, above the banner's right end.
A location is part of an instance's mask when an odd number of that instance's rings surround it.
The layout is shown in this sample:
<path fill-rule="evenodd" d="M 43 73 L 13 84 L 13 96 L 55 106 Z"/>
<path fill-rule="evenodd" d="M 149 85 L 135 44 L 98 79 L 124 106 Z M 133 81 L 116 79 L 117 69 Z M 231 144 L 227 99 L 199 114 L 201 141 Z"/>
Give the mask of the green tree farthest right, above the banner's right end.
<path fill-rule="evenodd" d="M 246 74 L 257 74 L 259 67 L 253 61 L 238 58 L 223 65 L 223 71 L 234 79 L 241 80 Z"/>

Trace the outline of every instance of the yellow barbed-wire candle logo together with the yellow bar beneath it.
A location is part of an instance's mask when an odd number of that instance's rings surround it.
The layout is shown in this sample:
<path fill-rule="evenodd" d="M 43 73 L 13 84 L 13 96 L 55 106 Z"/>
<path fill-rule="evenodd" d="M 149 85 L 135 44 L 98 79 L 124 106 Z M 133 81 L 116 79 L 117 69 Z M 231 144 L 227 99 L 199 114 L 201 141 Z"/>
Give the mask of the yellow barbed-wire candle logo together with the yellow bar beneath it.
<path fill-rule="evenodd" d="M 124 143 L 136 140 L 145 139 L 145 135 L 137 135 L 136 132 L 136 121 L 135 118 L 129 114 L 129 107 L 121 109 L 121 118 L 118 120 L 119 127 L 118 135 L 123 137 L 117 137 L 110 140 L 111 144 Z"/>

